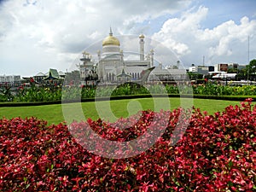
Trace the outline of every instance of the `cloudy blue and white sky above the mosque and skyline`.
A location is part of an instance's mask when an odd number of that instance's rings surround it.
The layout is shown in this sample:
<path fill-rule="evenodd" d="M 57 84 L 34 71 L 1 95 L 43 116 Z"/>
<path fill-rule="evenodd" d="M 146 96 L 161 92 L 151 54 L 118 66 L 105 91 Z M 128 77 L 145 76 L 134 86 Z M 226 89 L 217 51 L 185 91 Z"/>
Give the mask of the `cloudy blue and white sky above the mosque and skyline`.
<path fill-rule="evenodd" d="M 256 58 L 255 8 L 254 0 L 0 0 L 0 75 L 66 72 L 91 44 L 102 49 L 110 26 L 116 37 L 143 33 L 186 68 L 247 64 Z"/>

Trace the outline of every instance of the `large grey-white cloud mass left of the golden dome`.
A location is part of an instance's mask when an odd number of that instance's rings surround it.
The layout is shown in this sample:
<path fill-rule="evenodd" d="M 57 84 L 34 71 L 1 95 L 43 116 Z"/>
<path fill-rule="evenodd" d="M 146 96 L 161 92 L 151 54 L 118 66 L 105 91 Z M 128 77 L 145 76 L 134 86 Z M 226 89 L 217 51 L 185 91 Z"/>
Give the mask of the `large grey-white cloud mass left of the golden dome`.
<path fill-rule="evenodd" d="M 49 67 L 66 69 L 74 54 L 106 37 L 109 26 L 113 27 L 114 35 L 129 34 L 137 23 L 176 13 L 189 3 L 5 1 L 0 3 L 0 74 L 32 75 Z"/>

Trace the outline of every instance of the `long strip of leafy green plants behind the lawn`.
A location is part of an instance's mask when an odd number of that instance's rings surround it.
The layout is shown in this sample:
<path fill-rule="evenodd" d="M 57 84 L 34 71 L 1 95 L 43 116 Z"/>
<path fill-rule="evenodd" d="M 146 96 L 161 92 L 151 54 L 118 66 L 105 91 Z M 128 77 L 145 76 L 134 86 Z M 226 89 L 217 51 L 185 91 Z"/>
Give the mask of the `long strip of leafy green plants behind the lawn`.
<path fill-rule="evenodd" d="M 145 94 L 193 94 L 207 96 L 256 96 L 255 85 L 230 86 L 220 84 L 120 84 L 98 86 L 62 87 L 52 85 L 49 87 L 20 87 L 16 94 L 10 88 L 2 88 L 0 102 L 56 102 L 64 100 L 79 100 L 102 96 L 137 96 Z"/>

